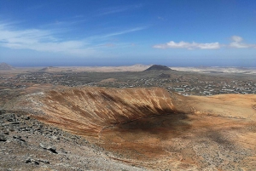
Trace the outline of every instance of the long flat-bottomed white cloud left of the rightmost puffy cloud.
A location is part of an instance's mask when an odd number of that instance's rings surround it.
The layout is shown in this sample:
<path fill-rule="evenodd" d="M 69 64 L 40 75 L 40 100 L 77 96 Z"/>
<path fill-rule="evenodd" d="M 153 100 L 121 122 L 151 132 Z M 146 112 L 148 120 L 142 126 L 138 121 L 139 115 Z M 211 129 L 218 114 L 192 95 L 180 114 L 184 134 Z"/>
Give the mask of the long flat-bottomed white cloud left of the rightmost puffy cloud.
<path fill-rule="evenodd" d="M 187 49 L 194 49 L 194 48 L 201 48 L 201 49 L 216 49 L 220 48 L 219 43 L 186 43 L 186 42 L 179 42 L 175 43 L 173 41 L 165 44 L 156 44 L 153 48 L 187 48 Z"/>

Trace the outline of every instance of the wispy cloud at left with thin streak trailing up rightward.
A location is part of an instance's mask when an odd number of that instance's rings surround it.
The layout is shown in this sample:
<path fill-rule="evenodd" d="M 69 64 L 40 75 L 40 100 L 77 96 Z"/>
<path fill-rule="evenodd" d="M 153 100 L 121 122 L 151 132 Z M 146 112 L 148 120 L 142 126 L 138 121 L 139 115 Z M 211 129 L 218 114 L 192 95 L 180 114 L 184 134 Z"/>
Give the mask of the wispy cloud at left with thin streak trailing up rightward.
<path fill-rule="evenodd" d="M 141 31 L 145 28 L 146 27 L 135 27 L 125 31 L 108 33 L 106 35 L 81 37 L 76 40 L 63 40 L 56 36 L 56 31 L 54 30 L 18 30 L 15 29 L 15 26 L 12 24 L 0 23 L 0 46 L 86 56 L 89 54 L 101 54 L 101 47 L 103 50 L 104 47 L 116 46 L 116 44 L 108 42 L 109 37 Z M 63 32 L 61 33 L 63 34 Z M 104 44 L 104 46 L 102 46 L 102 44 Z"/>

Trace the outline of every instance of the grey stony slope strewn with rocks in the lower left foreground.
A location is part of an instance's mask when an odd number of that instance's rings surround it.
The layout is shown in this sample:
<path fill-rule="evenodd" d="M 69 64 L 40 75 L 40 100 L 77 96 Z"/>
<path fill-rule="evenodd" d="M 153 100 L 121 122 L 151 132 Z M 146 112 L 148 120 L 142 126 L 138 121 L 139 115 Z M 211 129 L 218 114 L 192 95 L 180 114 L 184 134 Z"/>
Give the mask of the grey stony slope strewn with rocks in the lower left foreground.
<path fill-rule="evenodd" d="M 146 170 L 110 159 L 78 135 L 19 113 L 0 112 L 0 170 Z"/>

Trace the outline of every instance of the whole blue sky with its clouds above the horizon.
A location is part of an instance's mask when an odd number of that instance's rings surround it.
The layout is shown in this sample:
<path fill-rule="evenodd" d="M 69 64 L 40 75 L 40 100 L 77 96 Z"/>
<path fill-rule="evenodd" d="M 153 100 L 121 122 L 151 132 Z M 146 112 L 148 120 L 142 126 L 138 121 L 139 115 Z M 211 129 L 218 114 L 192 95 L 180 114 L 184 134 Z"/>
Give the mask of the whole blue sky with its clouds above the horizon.
<path fill-rule="evenodd" d="M 0 62 L 256 67 L 256 1 L 0 0 Z"/>

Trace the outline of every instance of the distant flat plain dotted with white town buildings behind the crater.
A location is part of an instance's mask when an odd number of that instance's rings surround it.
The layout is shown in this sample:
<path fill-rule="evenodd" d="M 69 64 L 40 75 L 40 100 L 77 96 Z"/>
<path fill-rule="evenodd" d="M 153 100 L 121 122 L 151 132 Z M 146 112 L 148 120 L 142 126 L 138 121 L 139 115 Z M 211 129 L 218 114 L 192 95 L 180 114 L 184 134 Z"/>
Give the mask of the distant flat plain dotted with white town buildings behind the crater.
<path fill-rule="evenodd" d="M 253 76 L 200 74 L 188 71 L 139 71 L 139 72 L 49 72 L 0 76 L 0 91 L 29 88 L 34 84 L 51 84 L 68 87 L 99 86 L 113 88 L 161 87 L 185 96 L 214 94 L 256 94 Z"/>

